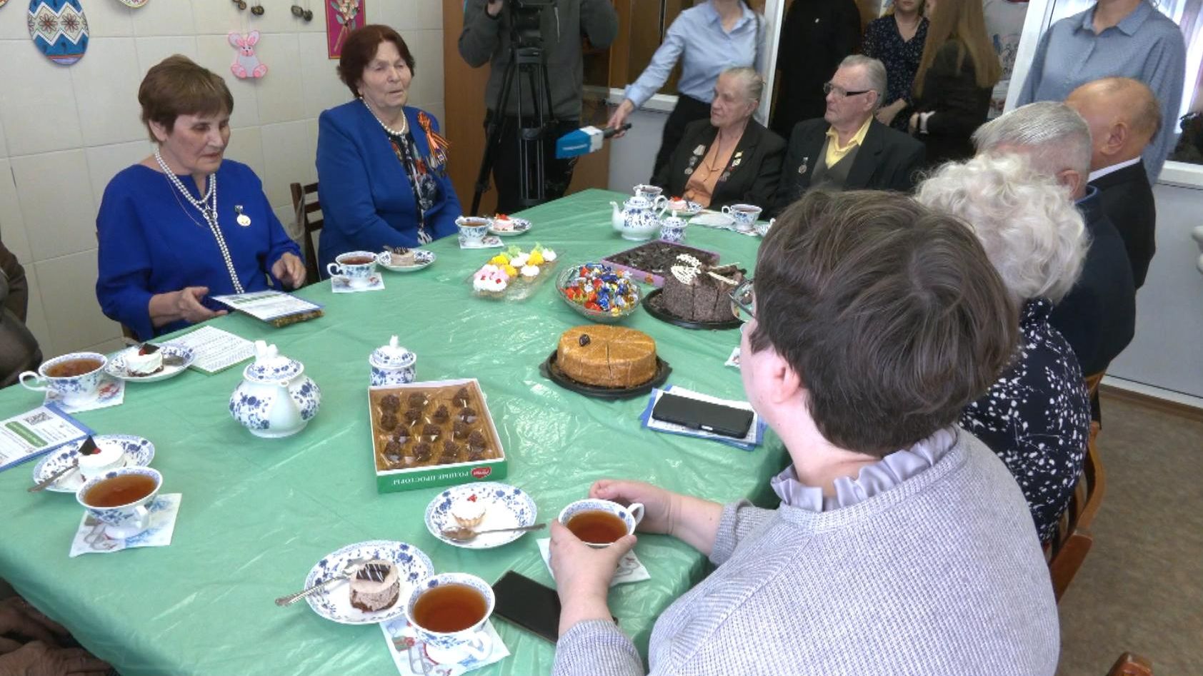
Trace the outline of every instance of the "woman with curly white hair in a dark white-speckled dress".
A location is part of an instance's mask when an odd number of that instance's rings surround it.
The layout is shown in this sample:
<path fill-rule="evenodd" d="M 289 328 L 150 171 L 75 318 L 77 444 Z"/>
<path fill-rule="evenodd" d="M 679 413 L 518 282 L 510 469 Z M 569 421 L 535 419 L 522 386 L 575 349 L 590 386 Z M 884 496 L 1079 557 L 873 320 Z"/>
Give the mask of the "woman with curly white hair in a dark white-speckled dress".
<path fill-rule="evenodd" d="M 1090 245 L 1081 214 L 1065 188 L 1020 155 L 949 162 L 919 186 L 917 198 L 968 224 L 1020 307 L 1011 366 L 960 422 L 1011 469 L 1041 540 L 1048 540 L 1073 494 L 1090 432 L 1081 367 L 1049 325 Z"/>

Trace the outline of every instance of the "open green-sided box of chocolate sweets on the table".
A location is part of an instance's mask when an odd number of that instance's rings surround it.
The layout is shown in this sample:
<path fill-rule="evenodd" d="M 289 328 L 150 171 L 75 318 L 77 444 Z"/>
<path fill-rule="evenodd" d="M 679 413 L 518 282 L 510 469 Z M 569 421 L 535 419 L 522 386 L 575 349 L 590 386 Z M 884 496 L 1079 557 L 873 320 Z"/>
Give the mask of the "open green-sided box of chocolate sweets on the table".
<path fill-rule="evenodd" d="M 505 452 L 475 379 L 369 387 L 368 409 L 381 492 L 505 476 Z"/>

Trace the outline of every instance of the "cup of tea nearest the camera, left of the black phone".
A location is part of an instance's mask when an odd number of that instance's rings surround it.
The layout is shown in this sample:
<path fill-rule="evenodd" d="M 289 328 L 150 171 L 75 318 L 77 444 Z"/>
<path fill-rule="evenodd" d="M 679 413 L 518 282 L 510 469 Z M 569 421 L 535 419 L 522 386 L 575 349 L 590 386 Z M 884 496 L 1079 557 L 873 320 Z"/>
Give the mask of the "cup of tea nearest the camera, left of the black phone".
<path fill-rule="evenodd" d="M 440 573 L 419 582 L 405 604 L 405 618 L 427 650 L 468 653 L 485 659 L 492 639 L 482 631 L 493 613 L 493 588 L 467 573 Z M 438 659 L 435 662 L 460 662 Z"/>

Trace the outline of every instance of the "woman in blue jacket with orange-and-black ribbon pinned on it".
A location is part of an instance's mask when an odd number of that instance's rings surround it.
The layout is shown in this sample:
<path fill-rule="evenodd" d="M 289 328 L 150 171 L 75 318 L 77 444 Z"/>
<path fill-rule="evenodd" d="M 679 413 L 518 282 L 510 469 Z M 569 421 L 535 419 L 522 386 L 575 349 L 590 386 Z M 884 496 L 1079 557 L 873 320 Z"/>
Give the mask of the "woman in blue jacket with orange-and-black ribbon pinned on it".
<path fill-rule="evenodd" d="M 405 41 L 386 25 L 355 30 L 338 76 L 356 99 L 318 120 L 319 269 L 346 251 L 419 247 L 456 232 L 446 141 L 433 117 L 405 106 L 414 77 Z"/>

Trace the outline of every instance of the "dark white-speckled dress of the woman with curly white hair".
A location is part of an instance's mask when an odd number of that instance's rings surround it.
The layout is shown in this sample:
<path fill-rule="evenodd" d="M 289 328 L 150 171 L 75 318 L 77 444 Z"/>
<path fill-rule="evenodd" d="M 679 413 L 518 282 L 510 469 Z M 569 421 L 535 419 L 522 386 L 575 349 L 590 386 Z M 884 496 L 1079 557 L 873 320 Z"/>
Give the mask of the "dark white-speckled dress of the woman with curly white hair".
<path fill-rule="evenodd" d="M 1024 303 L 1015 360 L 985 396 L 961 411 L 961 427 L 1015 476 L 1041 541 L 1053 536 L 1069 504 L 1090 435 L 1081 367 L 1049 325 L 1051 310 L 1044 298 Z"/>

